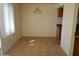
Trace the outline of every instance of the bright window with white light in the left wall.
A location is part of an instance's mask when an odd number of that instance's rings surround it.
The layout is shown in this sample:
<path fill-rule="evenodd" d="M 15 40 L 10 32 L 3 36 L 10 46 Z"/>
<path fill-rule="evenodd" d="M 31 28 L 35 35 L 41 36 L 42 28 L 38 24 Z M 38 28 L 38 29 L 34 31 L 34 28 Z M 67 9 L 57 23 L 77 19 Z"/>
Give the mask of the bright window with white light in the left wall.
<path fill-rule="evenodd" d="M 9 36 L 15 32 L 14 10 L 12 4 L 3 4 L 3 16 L 5 36 Z"/>

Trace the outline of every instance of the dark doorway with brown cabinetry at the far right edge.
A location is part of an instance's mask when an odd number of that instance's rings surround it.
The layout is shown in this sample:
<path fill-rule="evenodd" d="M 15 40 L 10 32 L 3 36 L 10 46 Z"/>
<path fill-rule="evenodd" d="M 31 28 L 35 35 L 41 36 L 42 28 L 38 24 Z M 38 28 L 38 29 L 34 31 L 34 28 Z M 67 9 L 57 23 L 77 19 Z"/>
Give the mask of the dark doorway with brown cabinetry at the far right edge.
<path fill-rule="evenodd" d="M 79 56 L 79 8 L 78 8 L 78 15 L 77 15 L 77 24 L 76 24 L 73 55 Z"/>

